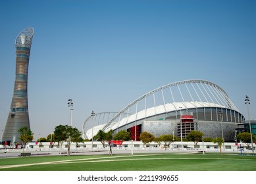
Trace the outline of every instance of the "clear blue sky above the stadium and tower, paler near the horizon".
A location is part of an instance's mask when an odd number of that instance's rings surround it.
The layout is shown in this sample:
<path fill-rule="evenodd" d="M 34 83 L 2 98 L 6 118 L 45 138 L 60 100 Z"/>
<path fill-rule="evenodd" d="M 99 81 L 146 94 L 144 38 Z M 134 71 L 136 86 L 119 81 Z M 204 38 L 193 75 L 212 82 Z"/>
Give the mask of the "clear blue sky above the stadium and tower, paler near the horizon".
<path fill-rule="evenodd" d="M 35 139 L 91 111 L 119 111 L 181 80 L 208 80 L 256 119 L 256 1 L 0 1 L 0 130 L 9 114 L 16 36 L 33 27 L 28 72 Z"/>

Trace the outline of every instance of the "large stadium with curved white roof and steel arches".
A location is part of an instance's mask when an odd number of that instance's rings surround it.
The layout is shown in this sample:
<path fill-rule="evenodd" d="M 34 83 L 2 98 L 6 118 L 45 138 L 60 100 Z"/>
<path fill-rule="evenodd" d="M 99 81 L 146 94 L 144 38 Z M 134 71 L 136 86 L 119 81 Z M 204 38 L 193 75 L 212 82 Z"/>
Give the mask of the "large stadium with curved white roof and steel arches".
<path fill-rule="evenodd" d="M 126 130 L 132 140 L 140 141 L 142 131 L 155 137 L 171 134 L 184 138 L 198 130 L 203 137 L 224 137 L 227 142 L 234 141 L 236 128 L 243 123 L 240 110 L 220 86 L 211 81 L 184 80 L 149 91 L 120 112 L 92 112 L 82 133 L 84 139 L 91 139 L 99 129 Z"/>

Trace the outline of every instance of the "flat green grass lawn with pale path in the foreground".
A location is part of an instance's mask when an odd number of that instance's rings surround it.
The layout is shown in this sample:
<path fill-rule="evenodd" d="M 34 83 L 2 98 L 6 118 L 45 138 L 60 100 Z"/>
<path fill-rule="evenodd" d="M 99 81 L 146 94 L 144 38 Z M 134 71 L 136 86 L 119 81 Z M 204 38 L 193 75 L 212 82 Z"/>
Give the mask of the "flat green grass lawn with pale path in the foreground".
<path fill-rule="evenodd" d="M 115 154 L 1 158 L 0 171 L 256 171 L 256 156 Z"/>

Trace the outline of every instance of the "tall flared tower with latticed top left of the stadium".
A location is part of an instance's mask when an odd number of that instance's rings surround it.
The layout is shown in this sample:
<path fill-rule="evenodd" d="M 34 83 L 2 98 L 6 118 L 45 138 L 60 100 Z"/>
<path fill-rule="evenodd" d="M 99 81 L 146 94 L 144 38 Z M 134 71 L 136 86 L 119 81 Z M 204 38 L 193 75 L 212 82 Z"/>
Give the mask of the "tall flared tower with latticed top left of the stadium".
<path fill-rule="evenodd" d="M 11 109 L 3 131 L 3 141 L 12 143 L 19 141 L 18 129 L 20 127 L 30 128 L 28 116 L 28 63 L 33 35 L 34 28 L 26 28 L 16 37 L 16 77 Z"/>

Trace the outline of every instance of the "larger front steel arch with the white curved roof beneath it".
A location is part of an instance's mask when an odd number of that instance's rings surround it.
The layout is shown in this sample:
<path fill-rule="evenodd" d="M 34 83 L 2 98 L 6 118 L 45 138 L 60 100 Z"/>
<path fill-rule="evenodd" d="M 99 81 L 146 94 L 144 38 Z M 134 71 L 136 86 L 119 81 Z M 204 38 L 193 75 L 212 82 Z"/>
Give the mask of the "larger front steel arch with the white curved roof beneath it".
<path fill-rule="evenodd" d="M 174 92 L 175 90 L 176 93 Z M 164 91 L 165 93 L 170 94 L 166 95 L 165 97 Z M 160 93 L 160 95 L 158 93 Z M 149 97 L 152 99 L 151 103 L 149 103 Z M 166 102 L 167 97 L 171 97 L 169 98 L 168 102 Z M 142 101 L 144 104 L 147 104 L 147 106 L 145 105 L 143 109 L 138 109 L 138 104 L 140 104 Z M 170 105 L 174 106 L 172 111 L 184 110 L 188 108 L 220 107 L 229 108 L 240 112 L 234 103 L 232 103 L 232 101 L 229 99 L 224 89 L 217 84 L 206 80 L 184 80 L 169 83 L 145 93 L 120 110 L 120 112 L 118 112 L 111 120 L 109 120 L 109 122 L 107 122 L 107 124 L 102 127 L 102 130 L 106 131 L 110 128 L 118 129 L 118 126 L 126 125 L 128 122 L 137 122 L 142 118 L 147 119 L 147 117 L 157 116 L 157 114 L 168 114 L 170 111 L 168 110 L 170 109 Z M 134 108 L 136 110 L 132 112 L 132 109 Z M 127 116 L 127 112 L 130 112 L 129 117 Z M 123 117 L 123 114 L 126 114 L 127 117 Z"/>

